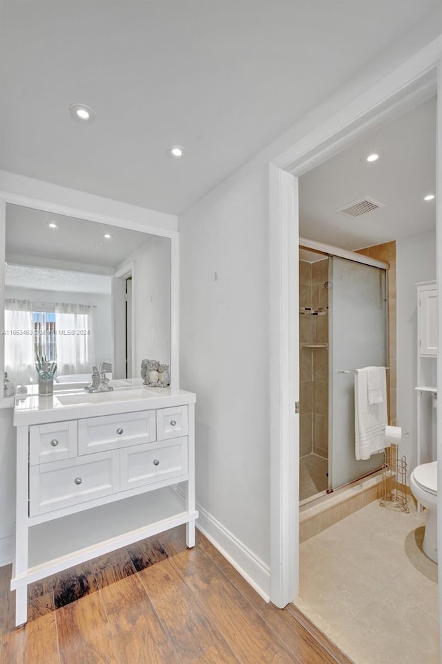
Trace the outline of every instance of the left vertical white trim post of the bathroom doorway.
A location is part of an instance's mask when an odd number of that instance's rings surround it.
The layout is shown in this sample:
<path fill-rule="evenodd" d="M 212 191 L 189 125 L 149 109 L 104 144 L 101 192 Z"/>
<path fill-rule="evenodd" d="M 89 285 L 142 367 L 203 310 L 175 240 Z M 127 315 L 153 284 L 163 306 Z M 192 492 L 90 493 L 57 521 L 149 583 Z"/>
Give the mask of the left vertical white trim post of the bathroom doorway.
<path fill-rule="evenodd" d="M 270 165 L 270 599 L 298 593 L 298 178 Z M 296 205 L 295 205 L 296 202 Z"/>

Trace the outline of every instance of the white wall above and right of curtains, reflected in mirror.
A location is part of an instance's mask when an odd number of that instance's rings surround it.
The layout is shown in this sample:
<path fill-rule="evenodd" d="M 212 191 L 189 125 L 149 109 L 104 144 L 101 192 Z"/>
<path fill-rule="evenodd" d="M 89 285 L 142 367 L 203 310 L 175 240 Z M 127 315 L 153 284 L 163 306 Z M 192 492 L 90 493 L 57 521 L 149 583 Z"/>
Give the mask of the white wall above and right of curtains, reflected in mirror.
<path fill-rule="evenodd" d="M 110 277 L 109 277 L 110 278 Z M 40 291 L 37 288 L 18 288 L 6 286 L 5 297 L 30 299 L 31 302 L 72 302 L 72 304 L 95 305 L 94 346 L 95 362 L 111 360 L 113 357 L 111 295 L 104 293 L 63 293 L 61 291 Z M 92 367 L 90 369 L 92 371 Z"/>

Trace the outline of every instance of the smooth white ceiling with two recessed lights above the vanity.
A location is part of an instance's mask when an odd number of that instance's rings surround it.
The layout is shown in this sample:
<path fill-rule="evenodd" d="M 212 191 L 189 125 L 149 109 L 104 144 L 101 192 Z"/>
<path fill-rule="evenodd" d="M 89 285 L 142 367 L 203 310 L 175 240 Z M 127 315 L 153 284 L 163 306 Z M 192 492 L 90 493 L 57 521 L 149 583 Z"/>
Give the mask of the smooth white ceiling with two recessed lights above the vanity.
<path fill-rule="evenodd" d="M 3 0 L 0 166 L 180 213 L 437 8 Z M 73 120 L 74 102 L 95 122 Z"/>

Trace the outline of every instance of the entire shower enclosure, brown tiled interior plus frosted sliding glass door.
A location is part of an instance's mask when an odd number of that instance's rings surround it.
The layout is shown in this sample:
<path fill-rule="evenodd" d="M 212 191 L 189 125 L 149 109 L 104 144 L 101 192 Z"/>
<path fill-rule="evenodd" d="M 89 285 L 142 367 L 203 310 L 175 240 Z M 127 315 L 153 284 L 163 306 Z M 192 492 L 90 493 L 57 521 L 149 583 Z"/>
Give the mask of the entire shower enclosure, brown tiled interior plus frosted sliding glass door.
<path fill-rule="evenodd" d="M 385 270 L 323 253 L 300 259 L 300 500 L 381 468 L 356 461 L 355 369 L 387 365 Z"/>

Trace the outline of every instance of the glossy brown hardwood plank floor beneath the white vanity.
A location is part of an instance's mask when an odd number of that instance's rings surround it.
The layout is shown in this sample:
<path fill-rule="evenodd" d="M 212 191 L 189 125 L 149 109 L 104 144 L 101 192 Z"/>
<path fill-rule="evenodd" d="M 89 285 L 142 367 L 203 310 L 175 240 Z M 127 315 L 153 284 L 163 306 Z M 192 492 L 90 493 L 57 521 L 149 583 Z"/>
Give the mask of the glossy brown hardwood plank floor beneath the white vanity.
<path fill-rule="evenodd" d="M 295 607 L 267 604 L 184 526 L 29 588 L 14 627 L 11 566 L 0 568 L 1 664 L 348 664 Z"/>

